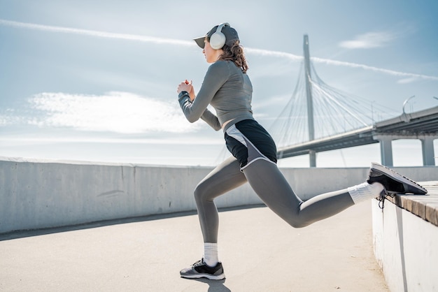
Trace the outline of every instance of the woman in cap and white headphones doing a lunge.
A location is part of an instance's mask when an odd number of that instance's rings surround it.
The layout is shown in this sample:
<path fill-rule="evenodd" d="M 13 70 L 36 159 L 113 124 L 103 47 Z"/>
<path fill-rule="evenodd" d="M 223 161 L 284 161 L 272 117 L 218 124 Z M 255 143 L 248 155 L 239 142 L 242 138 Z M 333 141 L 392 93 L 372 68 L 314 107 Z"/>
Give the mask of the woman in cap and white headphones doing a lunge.
<path fill-rule="evenodd" d="M 246 74 L 248 65 L 237 31 L 227 23 L 219 24 L 195 41 L 211 66 L 197 96 L 192 82 L 185 80 L 178 85 L 178 101 L 189 122 L 201 118 L 216 131 L 224 131 L 227 149 L 233 157 L 216 167 L 195 189 L 204 256 L 181 270 L 181 277 L 225 278 L 218 260 L 218 210 L 213 199 L 245 182 L 267 207 L 295 228 L 308 226 L 370 198 L 427 193 L 416 182 L 372 163 L 367 182 L 303 202 L 276 166 L 274 140 L 253 118 L 253 87 Z M 216 115 L 207 109 L 209 104 Z"/>

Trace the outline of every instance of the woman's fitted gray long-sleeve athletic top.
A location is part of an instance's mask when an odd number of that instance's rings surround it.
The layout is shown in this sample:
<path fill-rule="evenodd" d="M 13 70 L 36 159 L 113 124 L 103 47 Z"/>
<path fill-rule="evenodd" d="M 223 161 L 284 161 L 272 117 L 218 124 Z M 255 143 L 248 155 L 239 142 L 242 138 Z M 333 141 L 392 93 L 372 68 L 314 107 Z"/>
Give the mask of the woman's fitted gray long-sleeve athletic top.
<path fill-rule="evenodd" d="M 216 61 L 209 66 L 195 100 L 190 102 L 188 96 L 183 96 L 179 102 L 191 123 L 201 118 L 218 131 L 222 124 L 232 120 L 225 126 L 226 131 L 236 122 L 253 119 L 252 95 L 253 85 L 241 68 L 232 61 Z M 209 104 L 216 110 L 217 117 L 207 109 Z"/>

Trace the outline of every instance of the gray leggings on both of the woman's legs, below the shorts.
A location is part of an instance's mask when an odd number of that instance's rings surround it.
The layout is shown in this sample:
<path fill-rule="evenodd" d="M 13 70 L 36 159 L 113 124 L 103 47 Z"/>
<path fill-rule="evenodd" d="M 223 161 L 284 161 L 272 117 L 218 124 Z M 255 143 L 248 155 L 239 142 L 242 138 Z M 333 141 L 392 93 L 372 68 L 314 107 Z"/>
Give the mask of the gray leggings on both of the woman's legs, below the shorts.
<path fill-rule="evenodd" d="M 195 200 L 204 242 L 218 242 L 219 217 L 213 199 L 248 182 L 269 209 L 295 228 L 325 219 L 354 205 L 347 189 L 321 194 L 303 202 L 275 163 L 253 161 L 240 170 L 234 158 L 222 162 L 199 182 Z"/>

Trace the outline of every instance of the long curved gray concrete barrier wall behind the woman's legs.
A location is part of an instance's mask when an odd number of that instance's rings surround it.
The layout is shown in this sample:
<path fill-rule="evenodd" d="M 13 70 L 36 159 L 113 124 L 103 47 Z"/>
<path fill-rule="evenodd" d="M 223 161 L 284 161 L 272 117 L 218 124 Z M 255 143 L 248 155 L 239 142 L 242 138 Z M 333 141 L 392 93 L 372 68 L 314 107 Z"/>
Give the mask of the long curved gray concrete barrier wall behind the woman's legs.
<path fill-rule="evenodd" d="M 213 168 L 0 158 L 0 233 L 196 210 L 193 189 Z M 397 168 L 396 168 L 397 169 Z M 283 168 L 306 200 L 359 184 L 367 168 Z M 438 168 L 403 168 L 435 180 Z M 262 203 L 248 184 L 216 199 L 218 207 Z"/>

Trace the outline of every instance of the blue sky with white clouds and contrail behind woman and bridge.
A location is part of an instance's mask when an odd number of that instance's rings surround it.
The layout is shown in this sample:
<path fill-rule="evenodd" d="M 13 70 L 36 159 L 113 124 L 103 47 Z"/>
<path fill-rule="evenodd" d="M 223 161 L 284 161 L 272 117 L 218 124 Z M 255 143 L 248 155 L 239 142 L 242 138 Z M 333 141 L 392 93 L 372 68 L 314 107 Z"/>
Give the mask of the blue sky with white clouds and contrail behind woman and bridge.
<path fill-rule="evenodd" d="M 254 117 L 269 131 L 299 80 L 305 34 L 313 68 L 330 87 L 381 105 L 388 117 L 432 108 L 436 15 L 436 0 L 0 0 L 0 156 L 220 163 L 229 156 L 223 133 L 190 124 L 176 87 L 185 79 L 195 91 L 202 85 L 209 64 L 192 38 L 222 22 L 239 33 Z M 393 156 L 394 166 L 421 166 L 421 142 L 395 140 Z M 373 144 L 321 152 L 316 163 L 380 159 Z M 309 157 L 278 165 L 308 167 Z"/>

